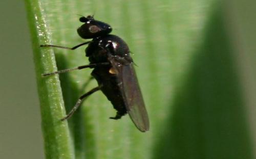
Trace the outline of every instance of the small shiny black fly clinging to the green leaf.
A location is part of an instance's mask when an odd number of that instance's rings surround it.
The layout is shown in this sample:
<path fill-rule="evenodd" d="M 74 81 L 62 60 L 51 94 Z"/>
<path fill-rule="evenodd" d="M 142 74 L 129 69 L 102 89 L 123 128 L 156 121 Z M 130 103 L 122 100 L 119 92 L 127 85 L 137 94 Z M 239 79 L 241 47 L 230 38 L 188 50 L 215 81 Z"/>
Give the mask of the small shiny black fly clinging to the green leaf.
<path fill-rule="evenodd" d="M 84 42 L 72 48 L 40 45 L 40 47 L 59 47 L 73 50 L 89 44 L 86 48 L 86 56 L 89 57 L 90 61 L 89 65 L 42 74 L 48 76 L 76 69 L 93 68 L 91 75 L 97 80 L 98 87 L 80 96 L 74 108 L 61 120 L 70 118 L 84 98 L 101 90 L 117 110 L 116 116 L 111 117 L 111 119 L 120 119 L 128 113 L 140 131 L 149 130 L 150 124 L 134 70 L 133 59 L 130 57 L 129 47 L 121 38 L 110 34 L 112 28 L 109 24 L 95 20 L 90 15 L 81 17 L 79 20 L 83 24 L 77 29 L 78 35 L 83 39 L 92 39 L 92 41 Z"/>

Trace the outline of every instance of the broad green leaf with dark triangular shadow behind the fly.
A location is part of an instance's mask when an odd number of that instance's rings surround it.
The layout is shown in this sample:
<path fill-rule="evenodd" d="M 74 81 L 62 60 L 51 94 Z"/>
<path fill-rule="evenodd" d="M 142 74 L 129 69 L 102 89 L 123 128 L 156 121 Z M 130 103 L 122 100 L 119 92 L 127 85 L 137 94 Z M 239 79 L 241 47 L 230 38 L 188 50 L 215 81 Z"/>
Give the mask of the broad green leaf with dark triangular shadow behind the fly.
<path fill-rule="evenodd" d="M 219 1 L 26 3 L 47 158 L 252 158 Z M 72 47 L 86 41 L 76 33 L 81 25 L 77 14 L 94 14 L 129 44 L 150 116 L 147 133 L 138 131 L 129 116 L 110 120 L 115 110 L 101 92 L 85 100 L 69 122 L 60 122 L 65 108 L 69 112 L 97 83 L 87 83 L 90 69 L 42 77 L 89 62 L 85 47 L 71 51 L 39 45 Z"/>

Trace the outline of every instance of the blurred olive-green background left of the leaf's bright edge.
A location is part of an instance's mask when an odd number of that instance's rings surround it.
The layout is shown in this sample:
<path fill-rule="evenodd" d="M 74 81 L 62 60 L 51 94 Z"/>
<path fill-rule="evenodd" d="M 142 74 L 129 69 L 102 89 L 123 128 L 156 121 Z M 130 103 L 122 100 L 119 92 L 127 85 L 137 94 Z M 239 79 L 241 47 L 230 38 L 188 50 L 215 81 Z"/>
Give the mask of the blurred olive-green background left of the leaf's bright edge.
<path fill-rule="evenodd" d="M 0 158 L 44 158 L 23 1 L 0 1 Z"/>

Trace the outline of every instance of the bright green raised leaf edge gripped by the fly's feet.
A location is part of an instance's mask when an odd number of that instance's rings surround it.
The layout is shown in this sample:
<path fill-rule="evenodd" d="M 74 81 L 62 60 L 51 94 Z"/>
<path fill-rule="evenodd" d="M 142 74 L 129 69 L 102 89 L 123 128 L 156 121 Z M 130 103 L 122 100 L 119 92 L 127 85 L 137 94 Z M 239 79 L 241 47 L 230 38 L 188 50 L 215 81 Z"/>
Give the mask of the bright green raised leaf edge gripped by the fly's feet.
<path fill-rule="evenodd" d="M 39 47 L 40 44 L 49 42 L 40 1 L 27 0 L 26 5 L 33 42 L 46 158 L 74 158 L 67 121 L 59 120 L 65 116 L 65 107 L 58 75 L 41 76 L 44 72 L 55 71 L 56 63 L 51 48 Z"/>

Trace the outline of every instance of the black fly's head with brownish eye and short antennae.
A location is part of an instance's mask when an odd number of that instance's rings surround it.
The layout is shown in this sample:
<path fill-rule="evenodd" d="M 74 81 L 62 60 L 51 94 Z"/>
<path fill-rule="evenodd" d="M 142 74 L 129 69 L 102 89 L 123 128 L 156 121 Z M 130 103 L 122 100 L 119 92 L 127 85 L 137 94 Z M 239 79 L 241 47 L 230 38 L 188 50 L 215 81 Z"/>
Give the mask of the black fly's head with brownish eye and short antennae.
<path fill-rule="evenodd" d="M 93 16 L 80 17 L 80 22 L 83 22 L 78 29 L 77 33 L 81 38 L 92 39 L 110 34 L 112 28 L 109 24 L 102 21 L 95 20 Z"/>

